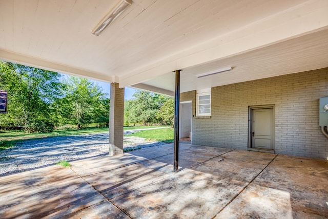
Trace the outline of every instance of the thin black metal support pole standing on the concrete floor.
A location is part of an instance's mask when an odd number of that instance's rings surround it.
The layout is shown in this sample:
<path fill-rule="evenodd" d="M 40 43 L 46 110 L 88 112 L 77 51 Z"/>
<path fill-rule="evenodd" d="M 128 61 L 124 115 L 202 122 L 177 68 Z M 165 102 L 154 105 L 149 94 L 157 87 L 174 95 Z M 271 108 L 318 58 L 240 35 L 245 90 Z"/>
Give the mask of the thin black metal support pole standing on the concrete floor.
<path fill-rule="evenodd" d="M 179 169 L 179 109 L 180 109 L 180 71 L 175 71 L 175 99 L 174 99 L 174 172 Z"/>

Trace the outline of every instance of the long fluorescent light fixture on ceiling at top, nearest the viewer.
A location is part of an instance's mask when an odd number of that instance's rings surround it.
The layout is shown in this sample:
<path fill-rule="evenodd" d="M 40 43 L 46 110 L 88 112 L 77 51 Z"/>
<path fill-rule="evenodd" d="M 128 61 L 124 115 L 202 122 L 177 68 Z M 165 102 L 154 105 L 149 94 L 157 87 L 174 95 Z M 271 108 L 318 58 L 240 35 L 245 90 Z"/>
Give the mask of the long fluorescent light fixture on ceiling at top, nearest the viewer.
<path fill-rule="evenodd" d="M 110 23 L 112 23 L 116 19 L 116 17 L 118 17 L 131 4 L 131 0 L 121 1 L 101 20 L 101 22 L 92 30 L 91 33 L 98 36 Z"/>

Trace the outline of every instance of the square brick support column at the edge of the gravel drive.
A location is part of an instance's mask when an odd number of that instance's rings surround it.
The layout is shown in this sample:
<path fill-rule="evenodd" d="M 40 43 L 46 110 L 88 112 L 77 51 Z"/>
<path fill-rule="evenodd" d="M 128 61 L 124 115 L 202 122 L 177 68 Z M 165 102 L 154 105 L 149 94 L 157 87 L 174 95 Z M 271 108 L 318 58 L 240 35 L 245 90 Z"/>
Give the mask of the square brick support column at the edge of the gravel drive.
<path fill-rule="evenodd" d="M 109 108 L 109 155 L 123 153 L 124 88 L 111 84 Z"/>

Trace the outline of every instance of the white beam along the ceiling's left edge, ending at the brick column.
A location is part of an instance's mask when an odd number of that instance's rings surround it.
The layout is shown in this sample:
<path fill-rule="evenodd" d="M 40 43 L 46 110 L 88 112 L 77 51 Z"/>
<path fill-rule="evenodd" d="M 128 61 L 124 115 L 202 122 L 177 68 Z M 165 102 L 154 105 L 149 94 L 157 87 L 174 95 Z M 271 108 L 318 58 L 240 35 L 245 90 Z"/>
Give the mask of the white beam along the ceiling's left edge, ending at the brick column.
<path fill-rule="evenodd" d="M 66 65 L 61 65 L 58 63 L 53 63 L 53 62 L 49 62 L 49 61 L 46 61 L 43 59 L 26 56 L 26 55 L 22 55 L 22 54 L 18 54 L 18 53 L 8 52 L 8 51 L 1 50 L 1 49 L 0 49 L 0 59 L 7 61 L 7 62 L 17 63 L 20 65 L 26 65 L 26 66 L 45 69 L 45 70 L 49 70 L 49 71 L 80 76 L 80 77 L 86 77 L 86 78 L 95 79 L 95 80 L 102 81 L 102 82 L 107 82 L 107 83 L 115 82 L 114 76 L 108 76 L 108 75 L 104 75 L 104 74 L 99 74 L 97 72 L 92 72 L 92 71 L 78 69 L 78 68 L 74 68 L 74 67 L 70 67 L 70 66 L 66 66 Z M 116 78 L 116 80 L 118 81 L 118 78 Z"/>

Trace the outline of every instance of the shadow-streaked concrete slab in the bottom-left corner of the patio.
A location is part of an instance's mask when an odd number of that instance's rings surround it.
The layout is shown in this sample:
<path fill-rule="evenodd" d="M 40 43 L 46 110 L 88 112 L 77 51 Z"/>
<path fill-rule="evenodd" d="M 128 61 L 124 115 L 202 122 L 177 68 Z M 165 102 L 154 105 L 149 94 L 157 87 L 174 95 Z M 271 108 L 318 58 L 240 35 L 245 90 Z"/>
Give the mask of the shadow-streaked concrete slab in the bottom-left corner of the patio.
<path fill-rule="evenodd" d="M 0 177 L 0 185 L 0 218 L 60 218 L 107 201 L 71 169 L 60 166 Z M 115 215 L 122 214 L 109 202 L 108 206 Z"/>

